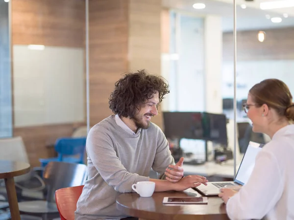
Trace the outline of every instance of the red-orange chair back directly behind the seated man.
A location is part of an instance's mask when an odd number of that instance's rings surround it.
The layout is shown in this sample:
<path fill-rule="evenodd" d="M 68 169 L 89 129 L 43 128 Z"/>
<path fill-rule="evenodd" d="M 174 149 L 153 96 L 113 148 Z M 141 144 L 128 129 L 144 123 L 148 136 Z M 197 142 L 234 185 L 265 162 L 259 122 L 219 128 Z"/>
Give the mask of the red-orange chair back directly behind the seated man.
<path fill-rule="evenodd" d="M 61 220 L 74 220 L 76 203 L 84 186 L 73 186 L 56 190 L 55 199 Z"/>

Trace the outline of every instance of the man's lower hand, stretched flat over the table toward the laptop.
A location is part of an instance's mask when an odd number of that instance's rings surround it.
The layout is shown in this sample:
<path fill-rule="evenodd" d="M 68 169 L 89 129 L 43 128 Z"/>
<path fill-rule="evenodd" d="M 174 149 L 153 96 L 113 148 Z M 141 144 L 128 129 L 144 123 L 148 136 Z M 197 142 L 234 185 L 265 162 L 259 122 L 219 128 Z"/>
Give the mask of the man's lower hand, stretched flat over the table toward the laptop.
<path fill-rule="evenodd" d="M 208 180 L 204 176 L 189 175 L 181 178 L 178 182 L 174 183 L 175 191 L 184 191 L 188 188 L 200 186 L 201 183 L 207 185 Z"/>

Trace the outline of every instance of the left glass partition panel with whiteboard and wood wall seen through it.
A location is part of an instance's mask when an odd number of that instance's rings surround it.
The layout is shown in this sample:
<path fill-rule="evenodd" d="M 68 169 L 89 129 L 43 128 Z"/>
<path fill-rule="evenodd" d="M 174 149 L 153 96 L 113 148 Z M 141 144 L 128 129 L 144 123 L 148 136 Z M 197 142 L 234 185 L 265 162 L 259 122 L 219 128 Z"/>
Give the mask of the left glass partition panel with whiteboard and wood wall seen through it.
<path fill-rule="evenodd" d="M 58 138 L 87 135 L 85 1 L 2 0 L 0 10 L 0 136 L 22 137 L 36 167 Z"/>

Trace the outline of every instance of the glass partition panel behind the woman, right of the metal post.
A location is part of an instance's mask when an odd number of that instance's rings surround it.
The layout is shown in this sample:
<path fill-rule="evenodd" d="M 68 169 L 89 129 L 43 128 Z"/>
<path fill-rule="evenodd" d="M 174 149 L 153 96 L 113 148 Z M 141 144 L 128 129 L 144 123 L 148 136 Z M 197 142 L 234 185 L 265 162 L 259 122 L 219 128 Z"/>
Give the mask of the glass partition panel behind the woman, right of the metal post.
<path fill-rule="evenodd" d="M 240 151 L 244 153 L 249 140 L 270 141 L 267 135 L 252 132 L 242 108 L 249 89 L 262 80 L 276 78 L 294 92 L 294 13 L 293 7 L 279 8 L 270 2 L 247 2 L 237 7 L 237 123 Z"/>

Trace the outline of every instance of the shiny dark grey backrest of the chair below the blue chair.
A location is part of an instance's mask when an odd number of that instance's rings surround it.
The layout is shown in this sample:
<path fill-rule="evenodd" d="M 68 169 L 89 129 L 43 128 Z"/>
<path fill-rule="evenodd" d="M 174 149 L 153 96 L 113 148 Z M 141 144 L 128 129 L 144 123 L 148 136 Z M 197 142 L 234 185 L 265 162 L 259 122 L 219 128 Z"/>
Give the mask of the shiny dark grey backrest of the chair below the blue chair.
<path fill-rule="evenodd" d="M 48 187 L 46 200 L 55 202 L 56 190 L 85 184 L 87 166 L 79 163 L 49 162 L 43 178 Z"/>

